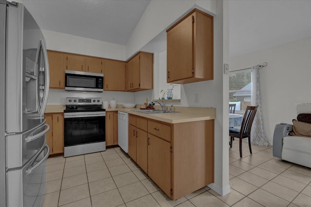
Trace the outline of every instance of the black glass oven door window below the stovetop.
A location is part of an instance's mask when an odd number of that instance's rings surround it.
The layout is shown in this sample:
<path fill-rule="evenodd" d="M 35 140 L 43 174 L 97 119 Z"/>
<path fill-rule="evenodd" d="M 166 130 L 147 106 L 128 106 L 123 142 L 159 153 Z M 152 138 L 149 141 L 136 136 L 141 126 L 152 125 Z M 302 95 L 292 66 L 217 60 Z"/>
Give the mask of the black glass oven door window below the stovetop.
<path fill-rule="evenodd" d="M 65 147 L 105 141 L 105 117 L 65 118 Z"/>

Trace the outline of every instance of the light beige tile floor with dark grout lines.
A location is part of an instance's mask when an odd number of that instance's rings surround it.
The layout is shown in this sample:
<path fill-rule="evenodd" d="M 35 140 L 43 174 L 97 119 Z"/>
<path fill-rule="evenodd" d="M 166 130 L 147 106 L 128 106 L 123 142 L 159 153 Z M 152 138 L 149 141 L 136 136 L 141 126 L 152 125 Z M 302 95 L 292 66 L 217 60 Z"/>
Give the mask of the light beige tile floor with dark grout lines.
<path fill-rule="evenodd" d="M 311 169 L 272 156 L 272 147 L 229 148 L 231 193 L 205 187 L 168 198 L 119 147 L 47 160 L 43 207 L 311 207 Z"/>

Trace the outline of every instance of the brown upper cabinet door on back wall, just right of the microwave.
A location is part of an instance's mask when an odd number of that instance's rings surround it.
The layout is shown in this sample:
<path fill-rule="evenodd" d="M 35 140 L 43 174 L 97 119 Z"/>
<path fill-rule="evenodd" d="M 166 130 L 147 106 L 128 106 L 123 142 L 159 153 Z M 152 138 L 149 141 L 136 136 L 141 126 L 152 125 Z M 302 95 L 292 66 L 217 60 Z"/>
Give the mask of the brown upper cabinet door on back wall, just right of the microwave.
<path fill-rule="evenodd" d="M 125 62 L 105 60 L 104 90 L 125 91 Z"/>

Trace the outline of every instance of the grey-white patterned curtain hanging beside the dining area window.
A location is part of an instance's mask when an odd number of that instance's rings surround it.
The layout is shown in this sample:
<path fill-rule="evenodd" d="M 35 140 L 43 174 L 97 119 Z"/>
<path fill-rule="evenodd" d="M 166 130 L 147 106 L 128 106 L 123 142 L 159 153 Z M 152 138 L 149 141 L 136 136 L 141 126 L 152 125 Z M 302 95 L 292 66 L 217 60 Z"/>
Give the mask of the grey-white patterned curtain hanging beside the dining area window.
<path fill-rule="evenodd" d="M 258 105 L 256 116 L 253 122 L 253 142 L 259 146 L 268 146 L 269 142 L 266 140 L 266 136 L 263 133 L 259 65 L 253 66 L 252 68 L 252 105 Z"/>

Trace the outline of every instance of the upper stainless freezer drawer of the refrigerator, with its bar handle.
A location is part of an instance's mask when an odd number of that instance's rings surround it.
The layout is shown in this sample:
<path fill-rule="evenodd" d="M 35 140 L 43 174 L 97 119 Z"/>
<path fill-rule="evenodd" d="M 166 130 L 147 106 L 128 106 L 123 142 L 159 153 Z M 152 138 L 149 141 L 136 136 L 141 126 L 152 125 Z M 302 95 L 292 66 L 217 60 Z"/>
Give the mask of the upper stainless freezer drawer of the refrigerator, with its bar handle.
<path fill-rule="evenodd" d="M 6 167 L 18 168 L 32 159 L 45 145 L 49 130 L 50 126 L 42 122 L 24 133 L 6 136 Z"/>

